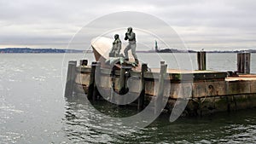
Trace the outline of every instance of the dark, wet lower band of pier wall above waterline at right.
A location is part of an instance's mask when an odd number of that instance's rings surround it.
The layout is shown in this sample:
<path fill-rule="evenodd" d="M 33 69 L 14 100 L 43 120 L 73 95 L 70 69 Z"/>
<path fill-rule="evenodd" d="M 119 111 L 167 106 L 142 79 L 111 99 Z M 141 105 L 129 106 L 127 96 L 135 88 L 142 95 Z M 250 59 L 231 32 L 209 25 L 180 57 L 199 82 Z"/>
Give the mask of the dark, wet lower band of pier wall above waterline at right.
<path fill-rule="evenodd" d="M 175 102 L 176 100 L 168 101 L 168 108 L 171 112 Z M 232 112 L 253 107 L 256 107 L 256 94 L 193 98 L 189 100 L 183 116 L 207 115 L 213 112 Z"/>

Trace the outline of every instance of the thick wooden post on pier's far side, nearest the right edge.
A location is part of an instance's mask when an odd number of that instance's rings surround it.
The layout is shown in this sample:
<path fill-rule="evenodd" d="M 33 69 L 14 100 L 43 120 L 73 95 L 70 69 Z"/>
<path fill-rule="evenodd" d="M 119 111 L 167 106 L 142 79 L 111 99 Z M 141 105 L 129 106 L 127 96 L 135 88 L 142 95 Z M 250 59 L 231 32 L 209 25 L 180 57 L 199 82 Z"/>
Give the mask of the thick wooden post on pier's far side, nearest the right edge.
<path fill-rule="evenodd" d="M 250 73 L 250 64 L 251 63 L 251 54 L 250 53 L 238 53 L 237 54 L 237 72 L 249 74 Z"/>

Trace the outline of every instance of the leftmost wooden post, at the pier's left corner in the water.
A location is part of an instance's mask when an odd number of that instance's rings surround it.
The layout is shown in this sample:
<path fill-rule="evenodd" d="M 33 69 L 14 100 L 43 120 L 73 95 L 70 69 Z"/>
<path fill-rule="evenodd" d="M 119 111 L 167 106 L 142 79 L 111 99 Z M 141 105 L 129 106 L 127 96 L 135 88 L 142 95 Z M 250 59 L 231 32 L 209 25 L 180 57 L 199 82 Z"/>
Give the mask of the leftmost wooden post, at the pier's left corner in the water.
<path fill-rule="evenodd" d="M 77 61 L 68 61 L 67 67 L 67 82 L 66 82 L 66 89 L 65 89 L 65 96 L 69 97 L 73 95 L 73 88 L 75 83 L 76 77 L 76 66 Z"/>

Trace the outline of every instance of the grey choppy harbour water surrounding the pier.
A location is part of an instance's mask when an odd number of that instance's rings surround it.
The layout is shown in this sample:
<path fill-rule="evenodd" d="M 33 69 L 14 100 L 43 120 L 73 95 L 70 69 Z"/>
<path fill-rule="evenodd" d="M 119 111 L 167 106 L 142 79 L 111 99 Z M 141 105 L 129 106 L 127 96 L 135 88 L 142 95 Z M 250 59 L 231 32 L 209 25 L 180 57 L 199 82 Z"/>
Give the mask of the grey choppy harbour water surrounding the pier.
<path fill-rule="evenodd" d="M 171 68 L 196 68 L 195 54 L 140 54 L 149 66 L 166 60 Z M 63 96 L 67 60 L 80 60 L 81 54 L 3 54 L 0 55 L 0 143 L 255 143 L 256 110 L 218 113 L 204 118 L 157 118 L 143 130 L 121 127 L 109 129 L 79 96 Z M 92 55 L 85 55 L 93 60 Z M 256 65 L 252 55 L 252 72 Z M 157 61 L 157 62 L 156 62 Z M 64 66 L 62 66 L 62 62 Z M 236 54 L 207 54 L 212 70 L 236 70 Z M 61 75 L 63 71 L 63 76 Z M 115 117 L 131 115 L 132 108 L 118 108 L 98 102 L 95 107 Z M 89 111 L 90 110 L 90 111 Z"/>

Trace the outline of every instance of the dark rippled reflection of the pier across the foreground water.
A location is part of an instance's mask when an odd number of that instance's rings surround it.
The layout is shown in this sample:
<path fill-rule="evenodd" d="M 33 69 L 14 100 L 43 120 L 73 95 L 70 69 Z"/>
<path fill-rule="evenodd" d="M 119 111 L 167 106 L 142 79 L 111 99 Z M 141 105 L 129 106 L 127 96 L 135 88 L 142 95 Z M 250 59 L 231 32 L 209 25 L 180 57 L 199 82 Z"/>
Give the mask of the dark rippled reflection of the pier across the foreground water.
<path fill-rule="evenodd" d="M 108 130 L 118 122 L 102 123 L 84 95 L 66 99 L 65 131 L 73 142 L 115 142 L 115 143 L 212 143 L 212 142 L 254 142 L 256 141 L 256 110 L 240 112 L 221 112 L 218 115 L 203 118 L 179 118 L 176 122 L 168 121 L 169 115 L 161 115 L 153 124 L 143 130 L 132 133 L 125 130 Z M 113 114 L 113 117 L 130 116 L 136 110 L 127 107 L 116 107 L 108 102 L 94 103 L 99 111 Z"/>

